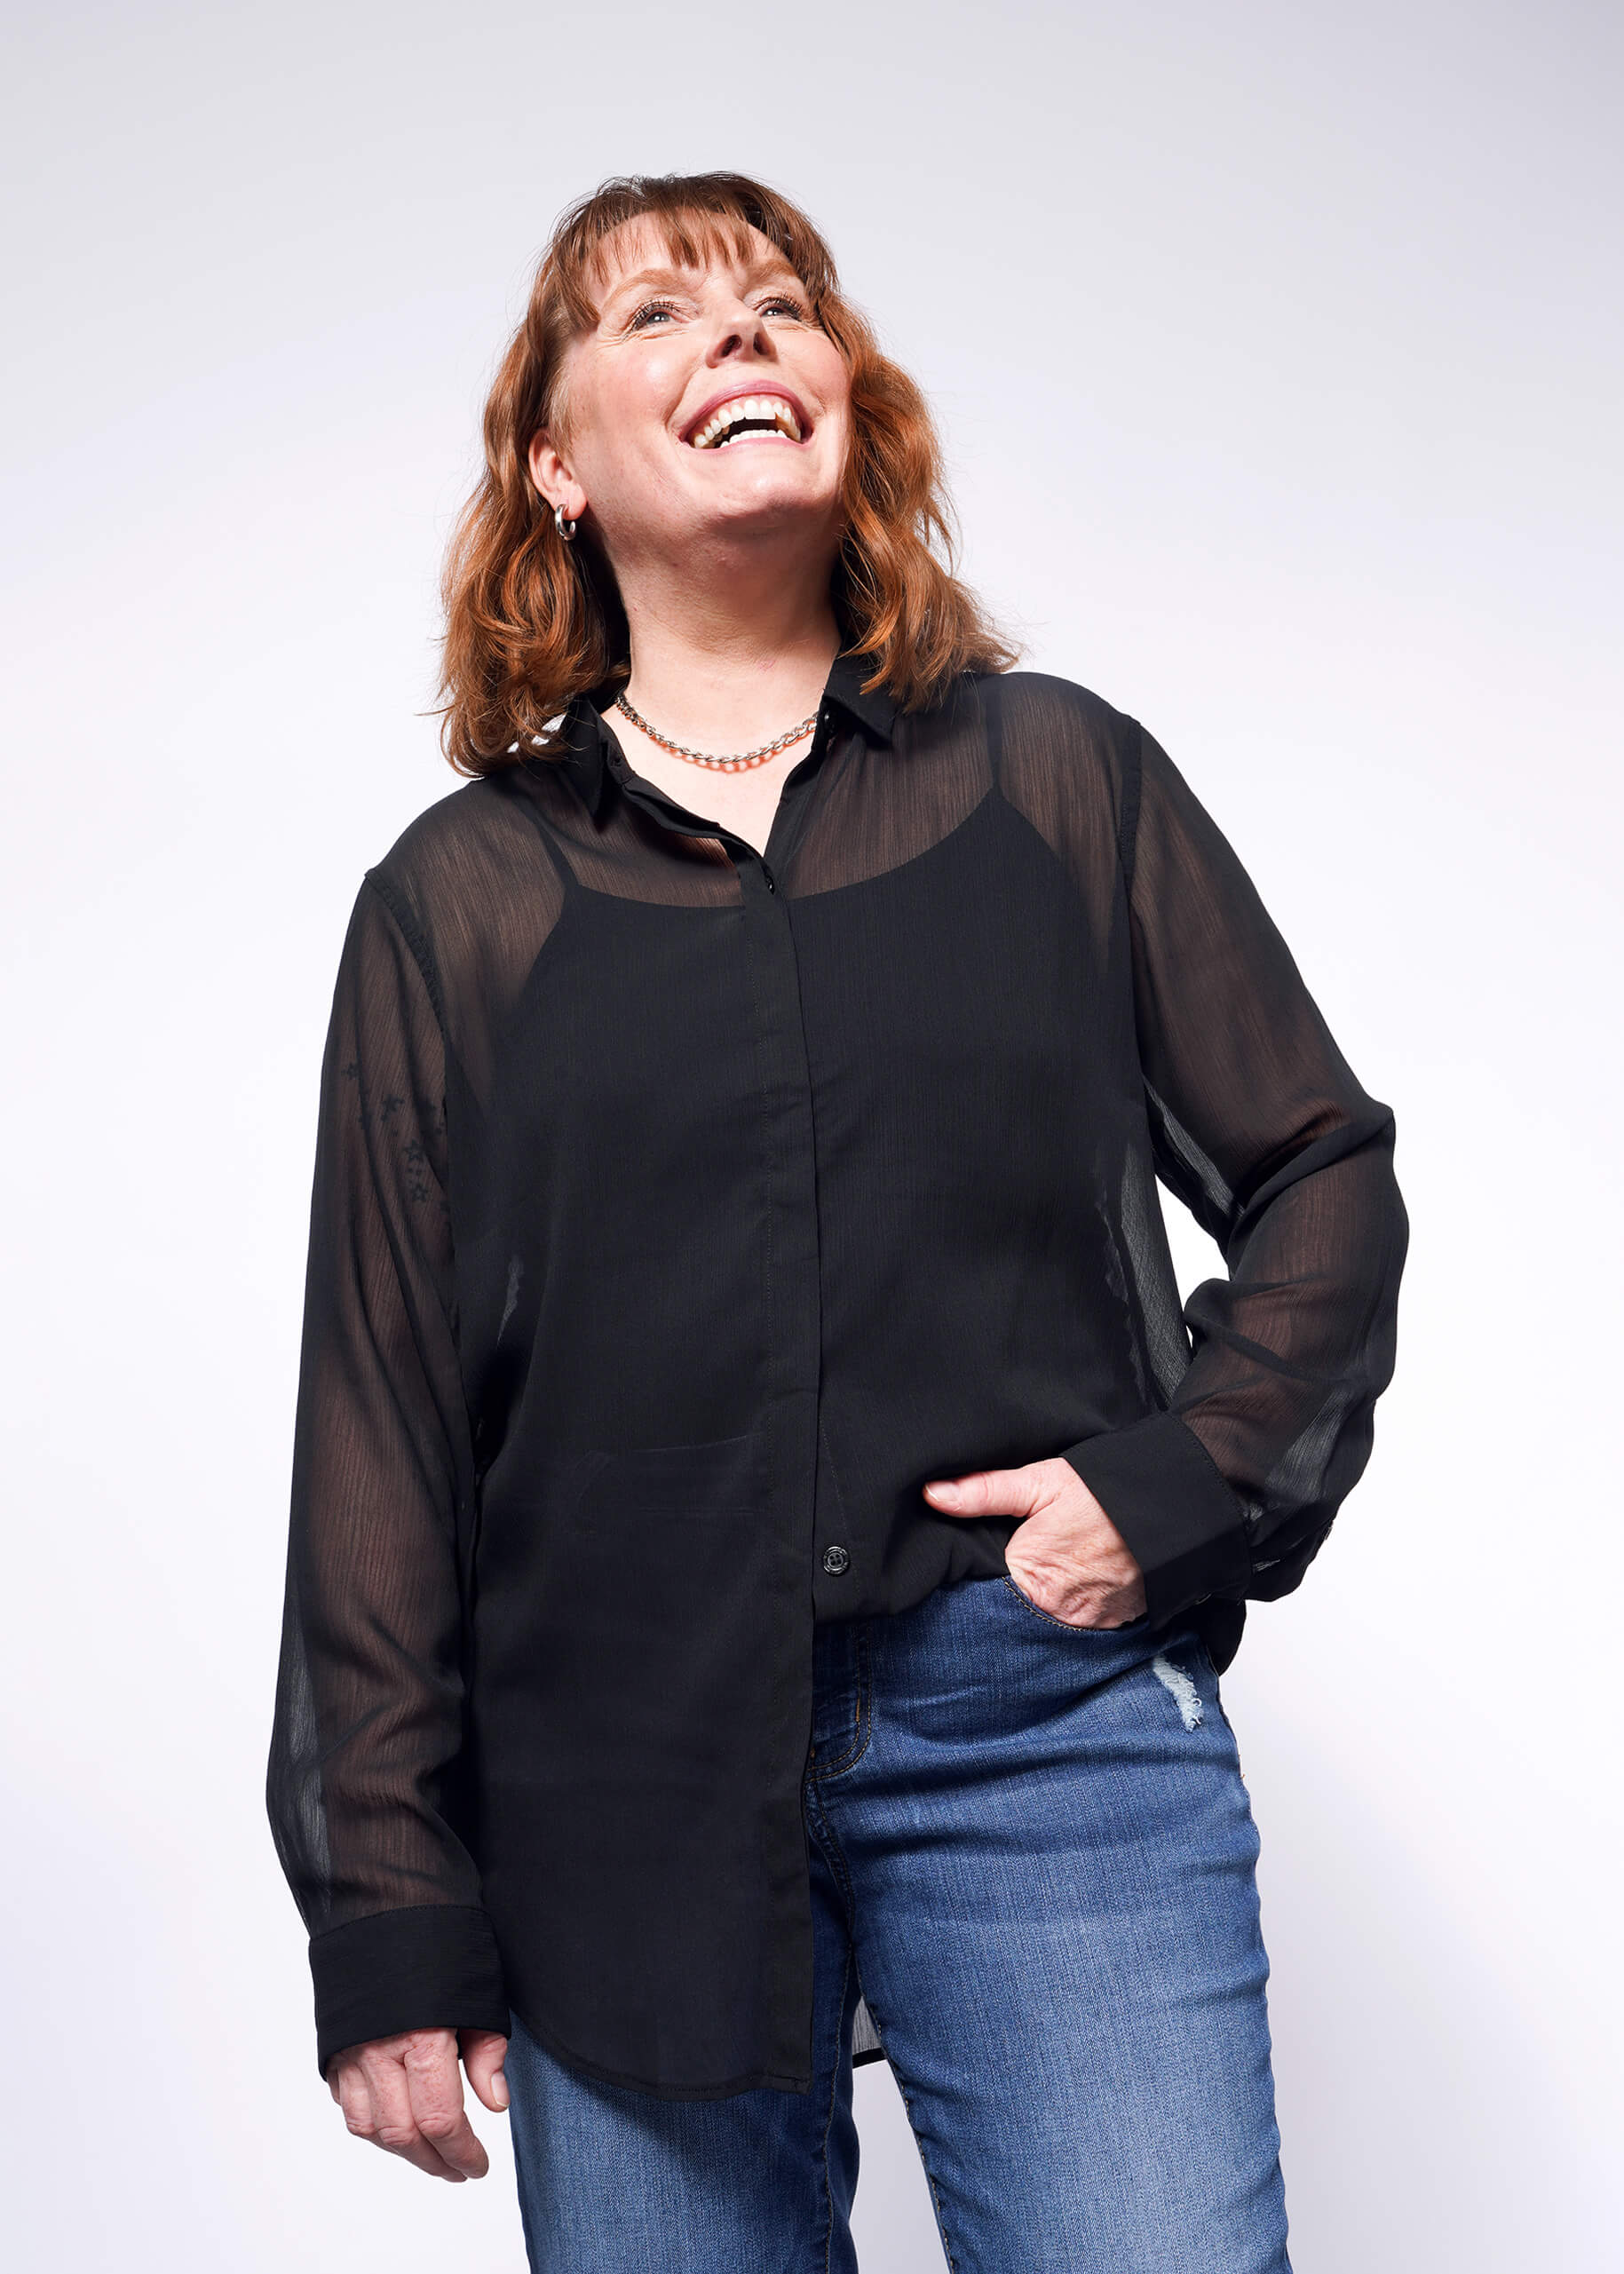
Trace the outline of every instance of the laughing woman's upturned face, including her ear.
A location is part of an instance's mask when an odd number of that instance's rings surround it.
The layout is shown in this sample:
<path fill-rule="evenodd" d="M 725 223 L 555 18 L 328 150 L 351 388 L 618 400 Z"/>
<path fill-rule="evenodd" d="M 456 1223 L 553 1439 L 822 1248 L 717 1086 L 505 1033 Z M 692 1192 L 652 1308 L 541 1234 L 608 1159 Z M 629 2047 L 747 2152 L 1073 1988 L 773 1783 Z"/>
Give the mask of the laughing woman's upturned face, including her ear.
<path fill-rule="evenodd" d="M 537 487 L 591 516 L 616 571 L 762 537 L 832 559 L 851 387 L 796 273 L 757 230 L 744 259 L 716 250 L 701 268 L 673 266 L 646 221 L 605 250 L 598 325 L 564 364 L 564 432 L 530 446 Z"/>

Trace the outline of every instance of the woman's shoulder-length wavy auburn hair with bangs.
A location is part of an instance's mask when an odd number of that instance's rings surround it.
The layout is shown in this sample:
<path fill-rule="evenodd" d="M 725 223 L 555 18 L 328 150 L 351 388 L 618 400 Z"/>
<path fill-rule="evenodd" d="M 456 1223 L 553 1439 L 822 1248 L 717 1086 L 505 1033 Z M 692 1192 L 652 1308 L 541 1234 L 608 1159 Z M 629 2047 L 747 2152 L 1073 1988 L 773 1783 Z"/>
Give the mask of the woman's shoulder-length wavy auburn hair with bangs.
<path fill-rule="evenodd" d="M 553 723 L 578 694 L 630 675 L 625 612 L 596 543 L 564 543 L 530 480 L 530 437 L 569 430 L 569 343 L 598 321 L 603 241 L 651 218 L 673 262 L 741 255 L 748 232 L 782 252 L 851 373 L 844 537 L 832 603 L 846 648 L 903 709 L 960 671 L 1008 671 L 1017 650 L 960 584 L 942 443 L 919 387 L 880 355 L 842 296 L 835 259 L 807 216 L 741 173 L 621 175 L 573 205 L 548 243 L 530 305 L 484 405 L 484 475 L 453 532 L 441 596 L 441 746 L 457 773 L 496 773 L 557 746 Z M 580 532 L 587 539 L 587 530 Z"/>

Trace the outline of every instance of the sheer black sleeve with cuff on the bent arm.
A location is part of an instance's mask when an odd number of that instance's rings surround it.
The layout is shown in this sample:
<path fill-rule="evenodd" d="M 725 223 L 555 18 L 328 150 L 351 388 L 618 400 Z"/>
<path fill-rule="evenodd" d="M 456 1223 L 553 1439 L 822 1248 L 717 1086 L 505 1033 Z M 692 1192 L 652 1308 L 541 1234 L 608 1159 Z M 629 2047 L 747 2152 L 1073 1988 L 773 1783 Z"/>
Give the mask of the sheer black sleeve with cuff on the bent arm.
<path fill-rule="evenodd" d="M 1337 1051 L 1233 848 L 1140 735 L 1128 844 L 1140 1064 L 1162 1178 L 1224 1251 L 1169 1408 L 1069 1449 L 1153 1621 L 1303 1578 L 1372 1449 L 1408 1219 L 1394 1119 Z"/>

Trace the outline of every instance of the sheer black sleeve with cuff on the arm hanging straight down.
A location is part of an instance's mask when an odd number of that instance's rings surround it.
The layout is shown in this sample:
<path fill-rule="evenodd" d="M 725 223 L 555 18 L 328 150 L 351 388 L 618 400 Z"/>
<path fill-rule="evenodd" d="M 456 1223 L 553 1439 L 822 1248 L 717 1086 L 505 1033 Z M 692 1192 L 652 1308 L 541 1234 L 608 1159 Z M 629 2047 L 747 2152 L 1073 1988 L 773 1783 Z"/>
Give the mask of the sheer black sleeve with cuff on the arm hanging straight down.
<path fill-rule="evenodd" d="M 368 875 L 321 1069 L 266 1783 L 309 1931 L 323 2074 L 341 2047 L 400 2028 L 507 2028 L 457 1828 L 473 1462 L 446 1169 L 434 1001 Z"/>

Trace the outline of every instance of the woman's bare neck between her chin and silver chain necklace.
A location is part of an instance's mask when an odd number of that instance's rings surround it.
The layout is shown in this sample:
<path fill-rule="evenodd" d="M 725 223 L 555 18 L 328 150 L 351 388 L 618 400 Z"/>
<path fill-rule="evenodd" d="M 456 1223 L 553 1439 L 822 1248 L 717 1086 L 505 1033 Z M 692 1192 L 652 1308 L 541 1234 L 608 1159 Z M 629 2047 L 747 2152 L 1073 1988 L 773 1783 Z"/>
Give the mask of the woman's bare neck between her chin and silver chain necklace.
<path fill-rule="evenodd" d="M 817 709 L 839 650 L 821 548 L 773 562 L 639 562 L 616 568 L 616 582 L 632 641 L 625 700 L 664 735 L 741 750 Z"/>

